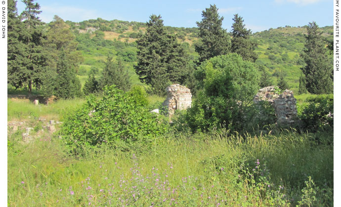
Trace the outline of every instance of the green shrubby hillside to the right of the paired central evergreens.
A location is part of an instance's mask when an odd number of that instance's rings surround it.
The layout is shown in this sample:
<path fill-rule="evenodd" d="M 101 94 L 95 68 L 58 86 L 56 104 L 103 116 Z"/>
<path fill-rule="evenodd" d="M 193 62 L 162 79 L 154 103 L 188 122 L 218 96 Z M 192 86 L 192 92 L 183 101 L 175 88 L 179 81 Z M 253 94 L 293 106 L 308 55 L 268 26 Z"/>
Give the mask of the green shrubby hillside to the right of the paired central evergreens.
<path fill-rule="evenodd" d="M 333 27 L 320 28 L 320 32 L 328 40 L 333 37 Z M 293 90 L 294 94 L 298 94 L 300 68 L 304 66 L 299 55 L 304 48 L 305 34 L 306 29 L 303 27 L 280 27 L 253 35 L 258 42 L 255 50 L 258 54 L 256 63 L 268 69 L 273 76 L 274 85 L 277 83 L 280 71 L 284 71 L 290 90 Z M 288 55 L 287 58 L 285 54 Z"/>

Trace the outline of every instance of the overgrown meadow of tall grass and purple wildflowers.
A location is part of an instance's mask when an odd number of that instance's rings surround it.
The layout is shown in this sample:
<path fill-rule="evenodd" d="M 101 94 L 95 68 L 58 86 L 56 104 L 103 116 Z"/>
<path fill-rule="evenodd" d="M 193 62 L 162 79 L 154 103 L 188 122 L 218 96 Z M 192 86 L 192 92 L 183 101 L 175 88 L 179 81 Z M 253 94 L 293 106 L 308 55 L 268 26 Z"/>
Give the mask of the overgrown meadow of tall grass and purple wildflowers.
<path fill-rule="evenodd" d="M 245 134 L 224 128 L 193 134 L 169 126 L 125 148 L 102 142 L 70 153 L 60 133 L 65 117 L 89 101 L 75 103 L 8 99 L 8 121 L 24 120 L 35 136 L 24 143 L 24 127 L 8 129 L 8 206 L 333 206 L 333 145 L 319 141 L 332 139 L 325 131 L 272 125 Z M 64 124 L 54 134 L 42 132 L 41 117 Z M 166 117 L 158 117 L 163 125 Z"/>

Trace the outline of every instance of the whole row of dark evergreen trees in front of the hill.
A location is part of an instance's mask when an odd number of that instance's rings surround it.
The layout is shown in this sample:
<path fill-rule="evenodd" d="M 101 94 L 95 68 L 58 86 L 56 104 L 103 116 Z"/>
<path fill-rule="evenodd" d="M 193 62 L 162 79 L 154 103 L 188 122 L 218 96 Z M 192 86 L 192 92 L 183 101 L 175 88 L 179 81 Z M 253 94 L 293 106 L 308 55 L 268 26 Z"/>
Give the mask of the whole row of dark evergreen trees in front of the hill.
<path fill-rule="evenodd" d="M 95 74 L 90 73 L 82 91 L 76 72 L 84 58 L 77 51 L 78 43 L 70 26 L 58 16 L 49 24 L 43 24 L 38 17 L 40 5 L 34 0 L 23 2 L 26 8 L 18 15 L 16 1 L 8 1 L 7 83 L 15 88 L 27 87 L 29 94 L 34 86 L 44 96 L 58 98 L 96 93 L 105 85 L 113 84 L 124 91 L 129 90 L 131 84 L 123 60 L 108 56 L 101 77 L 96 79 Z M 204 87 L 200 82 L 205 74 L 201 67 L 213 57 L 236 53 L 243 61 L 256 62 L 257 43 L 250 39 L 252 32 L 246 28 L 241 16 L 234 15 L 231 35 L 221 27 L 224 18 L 219 16 L 214 4 L 202 12 L 202 17 L 202 21 L 197 22 L 199 40 L 194 45 L 198 54 L 195 58 L 189 55 L 188 44 L 179 43 L 177 35 L 168 32 L 160 15 L 151 15 L 146 32 L 138 34 L 134 68 L 140 81 L 150 87 L 151 94 L 164 95 L 171 83 L 186 85 L 194 93 L 202 90 Z M 307 27 L 305 50 L 301 54 L 306 64 L 301 69 L 300 93 L 333 91 L 331 60 L 317 28 L 315 22 Z M 256 68 L 261 73 L 258 86 L 270 86 L 272 82 L 266 69 Z M 281 74 L 278 83 L 282 89 L 288 88 L 284 77 Z"/>

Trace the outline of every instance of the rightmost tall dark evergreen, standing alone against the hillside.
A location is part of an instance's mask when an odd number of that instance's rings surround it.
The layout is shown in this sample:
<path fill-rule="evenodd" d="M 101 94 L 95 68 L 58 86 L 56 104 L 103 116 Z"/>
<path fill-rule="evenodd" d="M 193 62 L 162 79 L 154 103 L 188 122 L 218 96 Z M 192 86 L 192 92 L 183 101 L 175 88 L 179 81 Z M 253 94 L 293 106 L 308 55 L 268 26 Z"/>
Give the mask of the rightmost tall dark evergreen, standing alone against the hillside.
<path fill-rule="evenodd" d="M 316 22 L 309 22 L 305 36 L 305 49 L 301 54 L 306 66 L 301 70 L 305 75 L 306 89 L 312 94 L 333 92 L 333 63 L 327 55 L 325 45 Z"/>

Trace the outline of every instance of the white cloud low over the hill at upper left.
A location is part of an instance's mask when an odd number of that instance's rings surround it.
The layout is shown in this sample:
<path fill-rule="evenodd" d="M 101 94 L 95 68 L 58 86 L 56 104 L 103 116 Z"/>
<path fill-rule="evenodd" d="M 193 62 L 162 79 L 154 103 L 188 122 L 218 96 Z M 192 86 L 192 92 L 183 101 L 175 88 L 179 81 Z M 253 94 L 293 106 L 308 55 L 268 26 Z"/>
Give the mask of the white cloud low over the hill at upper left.
<path fill-rule="evenodd" d="M 76 8 L 71 6 L 48 5 L 42 6 L 43 11 L 39 16 L 43 22 L 50 22 L 54 15 L 58 15 L 64 21 L 81 22 L 88 19 L 97 19 L 99 17 L 96 10 Z"/>

